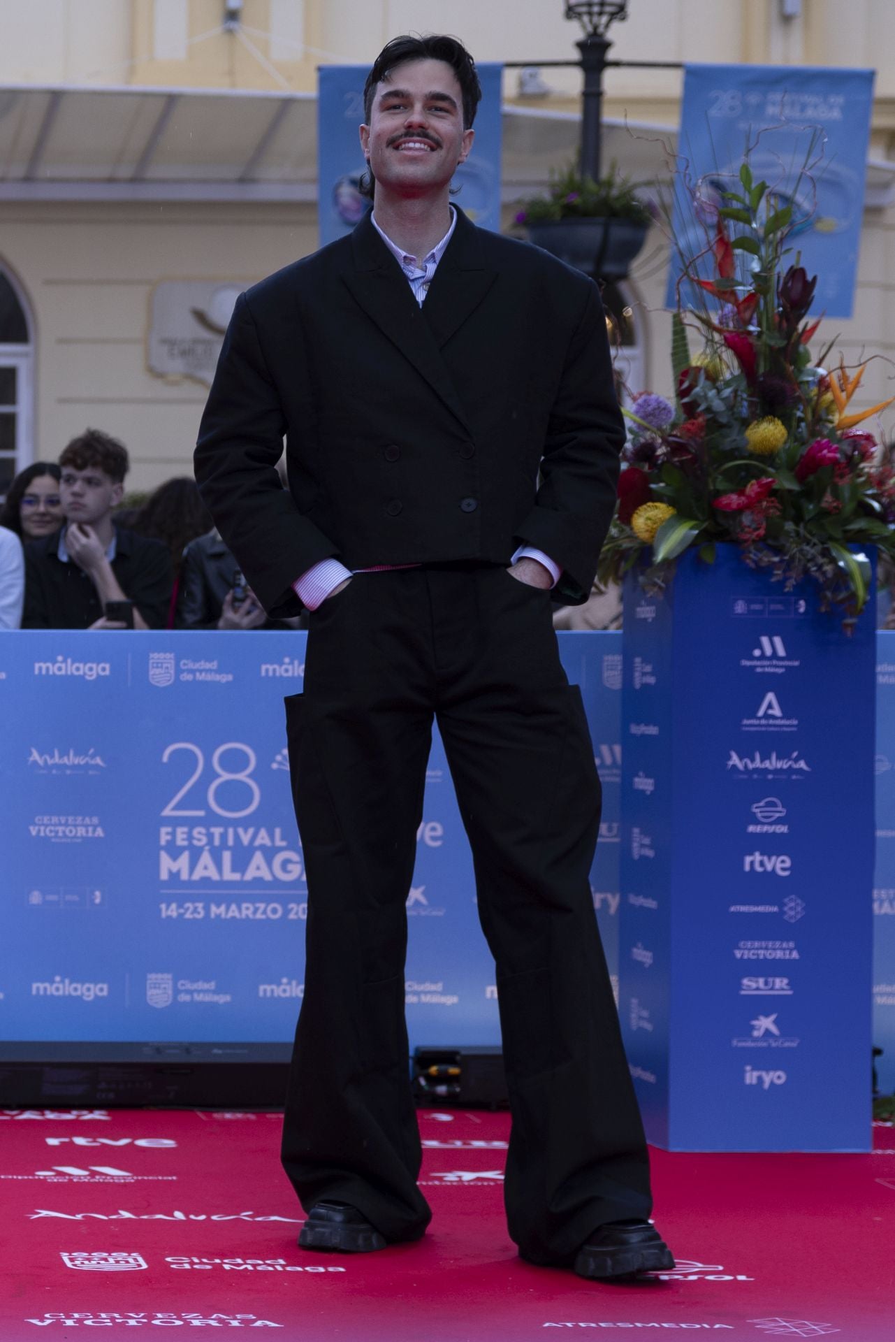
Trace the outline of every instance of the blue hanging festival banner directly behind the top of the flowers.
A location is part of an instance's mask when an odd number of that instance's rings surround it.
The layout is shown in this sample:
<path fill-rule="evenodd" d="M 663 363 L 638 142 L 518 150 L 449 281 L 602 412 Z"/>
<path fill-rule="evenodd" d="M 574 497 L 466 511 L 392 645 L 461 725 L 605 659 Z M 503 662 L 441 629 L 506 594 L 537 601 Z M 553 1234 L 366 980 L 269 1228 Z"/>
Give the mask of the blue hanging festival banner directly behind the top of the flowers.
<path fill-rule="evenodd" d="M 679 306 L 678 251 L 696 256 L 707 248 L 721 192 L 742 192 L 738 174 L 747 152 L 753 178 L 769 184 L 774 207 L 793 208 L 790 260 L 819 276 L 814 313 L 851 317 L 872 105 L 872 70 L 688 64 L 672 219 L 678 246 L 666 306 Z M 698 274 L 714 278 L 710 250 Z M 684 306 L 688 291 L 684 282 Z"/>

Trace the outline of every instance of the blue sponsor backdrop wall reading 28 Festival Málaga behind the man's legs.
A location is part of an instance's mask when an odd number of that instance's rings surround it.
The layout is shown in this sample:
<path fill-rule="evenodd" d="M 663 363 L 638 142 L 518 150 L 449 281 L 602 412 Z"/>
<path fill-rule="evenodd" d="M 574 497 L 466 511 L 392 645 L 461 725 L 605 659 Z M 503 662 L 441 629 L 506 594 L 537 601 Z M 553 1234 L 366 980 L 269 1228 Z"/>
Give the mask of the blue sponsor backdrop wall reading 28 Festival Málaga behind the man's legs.
<path fill-rule="evenodd" d="M 584 690 L 604 784 L 592 887 L 615 973 L 621 635 L 562 633 L 560 647 Z M 5 1039 L 291 1039 L 306 886 L 282 699 L 301 690 L 303 652 L 302 633 L 0 633 Z M 884 1048 L 880 1088 L 891 1091 L 895 633 L 886 632 L 876 831 L 874 1037 Z M 417 851 L 411 1039 L 496 1043 L 492 962 L 437 739 Z"/>

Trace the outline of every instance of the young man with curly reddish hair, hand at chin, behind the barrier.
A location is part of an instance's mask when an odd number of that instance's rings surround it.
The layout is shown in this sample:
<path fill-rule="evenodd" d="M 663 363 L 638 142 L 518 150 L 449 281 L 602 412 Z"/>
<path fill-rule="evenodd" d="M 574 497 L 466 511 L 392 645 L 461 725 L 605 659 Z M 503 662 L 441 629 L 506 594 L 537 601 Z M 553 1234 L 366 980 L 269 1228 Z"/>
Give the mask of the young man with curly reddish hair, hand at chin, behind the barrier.
<path fill-rule="evenodd" d="M 168 550 L 114 525 L 127 450 L 89 428 L 59 458 L 66 525 L 25 546 L 25 629 L 162 629 L 173 585 Z M 122 604 L 123 603 L 123 604 Z"/>

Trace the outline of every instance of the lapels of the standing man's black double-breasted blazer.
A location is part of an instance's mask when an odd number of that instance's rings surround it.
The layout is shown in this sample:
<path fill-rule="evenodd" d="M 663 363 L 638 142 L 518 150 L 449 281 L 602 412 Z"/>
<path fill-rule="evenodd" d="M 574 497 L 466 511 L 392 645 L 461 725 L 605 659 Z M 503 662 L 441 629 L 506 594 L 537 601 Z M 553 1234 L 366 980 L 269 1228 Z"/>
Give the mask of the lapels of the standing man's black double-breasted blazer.
<path fill-rule="evenodd" d="M 464 227 L 462 228 L 462 225 Z M 425 298 L 425 315 L 401 274 L 401 267 L 376 232 L 369 215 L 361 220 L 352 235 L 356 268 L 344 271 L 342 279 L 366 315 L 397 346 L 456 416 L 463 428 L 470 432 L 466 412 L 441 357 L 440 346 L 479 305 L 495 275 L 479 270 L 472 270 L 468 274 L 462 271 L 458 266 L 460 259 L 458 255 L 448 266 L 448 258 L 455 251 L 458 235 L 462 242 L 466 229 L 470 229 L 471 234 L 475 232 L 474 225 L 458 211 L 454 238 L 439 262 L 435 280 Z M 466 248 L 462 247 L 460 255 L 464 251 Z M 443 275 L 444 267 L 448 270 Z M 487 283 L 483 283 L 486 275 Z M 454 280 L 458 276 L 459 282 L 455 289 Z M 441 297 L 443 294 L 444 297 Z M 433 298 L 436 301 L 429 311 Z"/>

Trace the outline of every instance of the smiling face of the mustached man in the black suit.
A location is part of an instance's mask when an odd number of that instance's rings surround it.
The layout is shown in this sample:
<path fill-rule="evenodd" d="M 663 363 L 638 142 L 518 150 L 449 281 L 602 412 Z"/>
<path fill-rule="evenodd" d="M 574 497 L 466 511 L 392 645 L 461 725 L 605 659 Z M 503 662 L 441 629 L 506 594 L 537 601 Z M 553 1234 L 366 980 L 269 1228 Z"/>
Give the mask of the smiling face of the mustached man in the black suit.
<path fill-rule="evenodd" d="M 445 187 L 472 148 L 460 85 L 443 60 L 405 60 L 380 81 L 361 148 L 377 185 L 399 196 Z"/>

